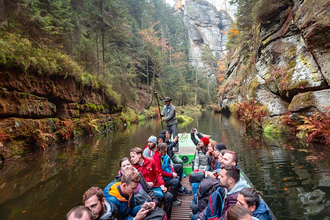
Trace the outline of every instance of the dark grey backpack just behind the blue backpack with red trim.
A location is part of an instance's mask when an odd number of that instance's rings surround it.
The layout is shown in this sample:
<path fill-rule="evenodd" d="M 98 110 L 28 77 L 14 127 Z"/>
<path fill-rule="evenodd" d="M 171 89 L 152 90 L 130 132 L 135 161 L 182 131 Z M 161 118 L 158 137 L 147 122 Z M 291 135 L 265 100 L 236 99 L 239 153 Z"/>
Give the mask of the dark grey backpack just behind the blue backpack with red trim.
<path fill-rule="evenodd" d="M 217 179 L 212 177 L 207 177 L 199 184 L 197 190 L 197 207 L 200 212 L 202 212 L 208 205 L 209 196 L 217 190 L 219 187 L 219 182 Z"/>

